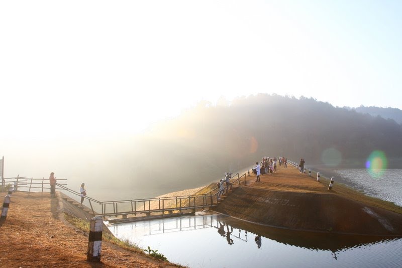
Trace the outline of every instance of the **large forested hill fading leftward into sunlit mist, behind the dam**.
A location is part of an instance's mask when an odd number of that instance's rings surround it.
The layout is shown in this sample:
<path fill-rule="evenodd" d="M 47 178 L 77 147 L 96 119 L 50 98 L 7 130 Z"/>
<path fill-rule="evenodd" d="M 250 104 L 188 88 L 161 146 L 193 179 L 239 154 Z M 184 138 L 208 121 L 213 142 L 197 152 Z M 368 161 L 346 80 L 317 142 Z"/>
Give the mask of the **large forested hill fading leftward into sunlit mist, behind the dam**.
<path fill-rule="evenodd" d="M 133 161 L 133 172 L 152 174 L 160 185 L 176 182 L 179 189 L 250 167 L 263 156 L 331 167 L 351 159 L 364 167 L 375 150 L 400 157 L 402 125 L 311 98 L 259 94 L 226 106 L 200 104 L 155 125 L 135 144 L 132 154 L 141 161 Z"/>

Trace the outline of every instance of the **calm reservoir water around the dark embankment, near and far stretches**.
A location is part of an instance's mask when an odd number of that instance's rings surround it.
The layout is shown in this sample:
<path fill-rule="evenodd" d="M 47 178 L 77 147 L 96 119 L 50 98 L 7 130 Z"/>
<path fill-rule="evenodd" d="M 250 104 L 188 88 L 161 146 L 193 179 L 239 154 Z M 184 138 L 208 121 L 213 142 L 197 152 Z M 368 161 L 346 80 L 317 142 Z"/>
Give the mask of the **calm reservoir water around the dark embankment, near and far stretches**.
<path fill-rule="evenodd" d="M 377 177 L 365 169 L 332 172 L 339 182 L 401 205 L 402 170 L 387 170 Z M 400 267 L 402 263 L 402 238 L 290 231 L 216 214 L 116 224 L 110 230 L 189 267 Z"/>

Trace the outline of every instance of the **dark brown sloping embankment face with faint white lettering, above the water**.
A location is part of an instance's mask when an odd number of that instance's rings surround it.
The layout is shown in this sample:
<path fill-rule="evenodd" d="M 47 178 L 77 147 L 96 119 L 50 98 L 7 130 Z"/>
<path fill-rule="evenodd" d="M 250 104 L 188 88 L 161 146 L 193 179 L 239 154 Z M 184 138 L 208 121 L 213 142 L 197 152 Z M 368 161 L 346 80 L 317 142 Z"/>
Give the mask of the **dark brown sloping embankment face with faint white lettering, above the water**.
<path fill-rule="evenodd" d="M 402 215 L 333 193 L 238 187 L 216 212 L 279 228 L 402 236 Z"/>

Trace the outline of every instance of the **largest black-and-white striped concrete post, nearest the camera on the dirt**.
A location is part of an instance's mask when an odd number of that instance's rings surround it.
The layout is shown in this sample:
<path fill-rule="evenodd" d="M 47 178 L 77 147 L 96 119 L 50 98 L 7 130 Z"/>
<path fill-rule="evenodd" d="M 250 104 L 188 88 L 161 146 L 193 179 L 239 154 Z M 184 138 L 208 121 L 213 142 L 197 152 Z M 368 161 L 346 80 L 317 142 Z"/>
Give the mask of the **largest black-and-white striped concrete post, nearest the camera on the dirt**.
<path fill-rule="evenodd" d="M 87 254 L 87 260 L 89 261 L 100 261 L 100 249 L 102 248 L 102 229 L 102 218 L 96 216 L 90 219 Z"/>

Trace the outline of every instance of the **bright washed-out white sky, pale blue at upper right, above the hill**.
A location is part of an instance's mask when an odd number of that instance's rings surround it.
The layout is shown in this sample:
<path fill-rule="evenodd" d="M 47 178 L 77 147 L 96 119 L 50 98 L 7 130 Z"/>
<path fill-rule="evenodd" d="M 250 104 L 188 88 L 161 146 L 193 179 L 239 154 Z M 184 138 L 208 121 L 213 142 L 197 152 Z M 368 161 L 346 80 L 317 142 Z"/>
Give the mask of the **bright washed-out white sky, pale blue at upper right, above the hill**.
<path fill-rule="evenodd" d="M 383 0 L 1 1 L 0 138 L 137 132 L 259 92 L 401 109 L 401 14 Z"/>

